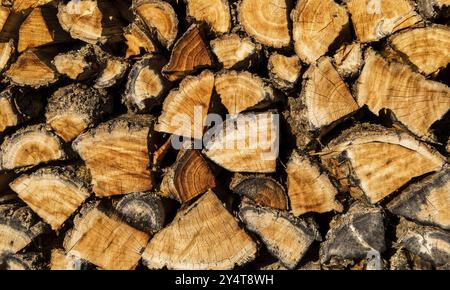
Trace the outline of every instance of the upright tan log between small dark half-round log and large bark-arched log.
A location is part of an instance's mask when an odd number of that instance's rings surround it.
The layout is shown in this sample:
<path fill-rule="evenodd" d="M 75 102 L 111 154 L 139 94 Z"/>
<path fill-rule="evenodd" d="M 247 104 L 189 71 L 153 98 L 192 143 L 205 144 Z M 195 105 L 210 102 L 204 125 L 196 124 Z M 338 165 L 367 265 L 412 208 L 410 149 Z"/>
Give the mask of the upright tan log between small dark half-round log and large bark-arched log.
<path fill-rule="evenodd" d="M 286 172 L 291 211 L 295 216 L 308 212 L 342 212 L 342 205 L 335 199 L 338 191 L 330 177 L 308 156 L 294 152 Z"/>

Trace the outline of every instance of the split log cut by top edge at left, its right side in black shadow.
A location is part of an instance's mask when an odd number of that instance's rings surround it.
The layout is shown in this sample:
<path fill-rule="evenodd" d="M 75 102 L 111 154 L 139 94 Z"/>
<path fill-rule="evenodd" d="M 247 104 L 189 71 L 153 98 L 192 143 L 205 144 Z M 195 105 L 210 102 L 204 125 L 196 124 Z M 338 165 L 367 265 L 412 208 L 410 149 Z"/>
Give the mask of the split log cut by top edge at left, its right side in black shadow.
<path fill-rule="evenodd" d="M 70 0 L 60 3 L 58 19 L 75 39 L 90 44 L 115 42 L 122 37 L 117 10 L 107 0 Z"/>

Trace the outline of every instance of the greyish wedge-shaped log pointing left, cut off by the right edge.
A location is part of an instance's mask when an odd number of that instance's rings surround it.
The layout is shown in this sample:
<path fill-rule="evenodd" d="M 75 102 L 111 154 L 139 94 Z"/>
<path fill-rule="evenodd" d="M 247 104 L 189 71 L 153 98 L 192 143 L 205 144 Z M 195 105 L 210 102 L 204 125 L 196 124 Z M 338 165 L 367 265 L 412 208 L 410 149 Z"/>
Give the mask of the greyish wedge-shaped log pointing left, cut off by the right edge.
<path fill-rule="evenodd" d="M 390 212 L 450 230 L 450 169 L 415 182 L 388 204 Z"/>

